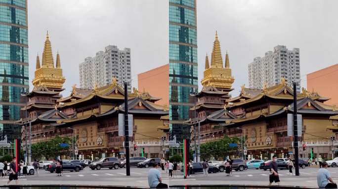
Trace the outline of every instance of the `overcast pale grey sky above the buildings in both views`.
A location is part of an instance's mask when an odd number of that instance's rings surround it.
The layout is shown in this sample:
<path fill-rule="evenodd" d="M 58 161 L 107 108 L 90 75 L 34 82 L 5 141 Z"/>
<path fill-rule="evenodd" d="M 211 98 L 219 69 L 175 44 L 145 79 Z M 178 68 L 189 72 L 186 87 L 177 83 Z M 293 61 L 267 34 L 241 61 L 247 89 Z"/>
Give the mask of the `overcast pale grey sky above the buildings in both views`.
<path fill-rule="evenodd" d="M 30 81 L 48 30 L 67 93 L 80 86 L 79 63 L 109 44 L 131 48 L 137 87 L 138 73 L 168 63 L 168 7 L 168 0 L 28 0 Z M 248 63 L 278 44 L 300 49 L 306 87 L 307 73 L 338 63 L 336 7 L 337 0 L 197 0 L 199 81 L 217 30 L 223 60 L 229 52 L 233 95 L 248 86 Z"/>

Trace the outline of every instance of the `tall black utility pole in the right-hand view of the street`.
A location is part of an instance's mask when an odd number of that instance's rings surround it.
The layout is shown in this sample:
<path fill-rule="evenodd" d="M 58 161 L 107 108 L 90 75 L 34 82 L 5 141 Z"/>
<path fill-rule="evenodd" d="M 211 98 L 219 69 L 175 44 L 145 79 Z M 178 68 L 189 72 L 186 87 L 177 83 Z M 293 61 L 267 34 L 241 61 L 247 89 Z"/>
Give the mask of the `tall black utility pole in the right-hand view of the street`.
<path fill-rule="evenodd" d="M 295 147 L 295 169 L 296 176 L 299 176 L 299 162 L 298 162 L 298 130 L 297 130 L 297 90 L 296 82 L 294 82 L 294 147 Z"/>

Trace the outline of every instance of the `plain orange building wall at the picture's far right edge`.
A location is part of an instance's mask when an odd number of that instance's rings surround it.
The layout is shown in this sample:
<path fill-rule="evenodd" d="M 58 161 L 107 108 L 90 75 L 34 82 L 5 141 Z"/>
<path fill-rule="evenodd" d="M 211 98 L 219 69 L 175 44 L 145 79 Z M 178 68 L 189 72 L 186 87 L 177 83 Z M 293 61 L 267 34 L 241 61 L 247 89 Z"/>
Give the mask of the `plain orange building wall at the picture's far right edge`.
<path fill-rule="evenodd" d="M 312 88 L 321 96 L 330 97 L 326 104 L 338 106 L 338 64 L 306 75 L 307 90 Z"/>

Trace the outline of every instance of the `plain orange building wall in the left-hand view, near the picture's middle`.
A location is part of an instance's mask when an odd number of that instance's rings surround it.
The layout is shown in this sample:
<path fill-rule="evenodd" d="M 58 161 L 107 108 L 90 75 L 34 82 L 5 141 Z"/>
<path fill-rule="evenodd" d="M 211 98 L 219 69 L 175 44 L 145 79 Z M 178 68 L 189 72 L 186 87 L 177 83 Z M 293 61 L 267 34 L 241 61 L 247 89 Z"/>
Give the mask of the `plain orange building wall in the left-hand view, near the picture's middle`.
<path fill-rule="evenodd" d="M 161 97 L 156 104 L 169 106 L 169 64 L 137 75 L 138 90 L 143 88 L 152 96 Z"/>

